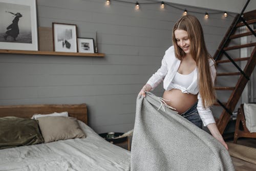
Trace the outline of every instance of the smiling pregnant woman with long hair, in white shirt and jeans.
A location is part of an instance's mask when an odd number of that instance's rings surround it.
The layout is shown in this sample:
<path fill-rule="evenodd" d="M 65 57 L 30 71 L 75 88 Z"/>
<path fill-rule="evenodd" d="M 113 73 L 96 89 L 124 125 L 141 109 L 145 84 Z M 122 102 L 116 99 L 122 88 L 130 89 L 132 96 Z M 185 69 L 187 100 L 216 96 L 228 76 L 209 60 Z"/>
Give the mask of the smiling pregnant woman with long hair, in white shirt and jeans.
<path fill-rule="evenodd" d="M 215 78 L 216 65 L 206 49 L 202 26 L 195 16 L 186 15 L 174 25 L 173 46 L 165 51 L 161 67 L 139 95 L 145 96 L 163 81 L 165 102 L 201 129 L 207 126 L 228 148 L 210 111 L 216 100 Z"/>

